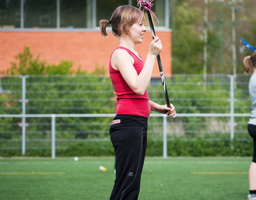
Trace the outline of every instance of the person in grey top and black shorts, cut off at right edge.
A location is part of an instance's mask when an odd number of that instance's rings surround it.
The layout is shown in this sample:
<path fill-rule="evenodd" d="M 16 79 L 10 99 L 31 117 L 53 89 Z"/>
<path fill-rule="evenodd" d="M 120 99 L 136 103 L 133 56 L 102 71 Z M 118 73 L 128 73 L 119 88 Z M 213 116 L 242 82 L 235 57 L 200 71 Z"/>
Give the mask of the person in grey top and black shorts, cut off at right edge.
<path fill-rule="evenodd" d="M 244 58 L 245 73 L 252 76 L 249 81 L 249 93 L 252 101 L 251 117 L 247 126 L 253 139 L 253 158 L 249 169 L 249 195 L 247 199 L 256 200 L 256 51 Z M 252 70 L 253 69 L 253 70 Z"/>

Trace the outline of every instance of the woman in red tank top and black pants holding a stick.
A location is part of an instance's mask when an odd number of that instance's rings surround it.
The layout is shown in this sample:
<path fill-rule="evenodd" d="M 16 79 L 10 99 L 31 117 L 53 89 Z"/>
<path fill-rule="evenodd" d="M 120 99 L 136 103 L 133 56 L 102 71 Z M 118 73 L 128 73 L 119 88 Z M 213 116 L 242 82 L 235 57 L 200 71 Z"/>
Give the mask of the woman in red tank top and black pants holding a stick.
<path fill-rule="evenodd" d="M 162 43 L 155 38 L 143 62 L 135 45 L 143 42 L 144 20 L 139 9 L 125 5 L 119 6 L 110 20 L 99 22 L 103 36 L 108 36 L 106 26 L 110 24 L 112 33 L 119 38 L 119 46 L 109 62 L 110 78 L 118 101 L 117 115 L 110 125 L 110 139 L 116 156 L 116 180 L 110 200 L 138 199 L 150 110 L 176 116 L 173 105 L 169 108 L 148 99 L 147 87 Z"/>

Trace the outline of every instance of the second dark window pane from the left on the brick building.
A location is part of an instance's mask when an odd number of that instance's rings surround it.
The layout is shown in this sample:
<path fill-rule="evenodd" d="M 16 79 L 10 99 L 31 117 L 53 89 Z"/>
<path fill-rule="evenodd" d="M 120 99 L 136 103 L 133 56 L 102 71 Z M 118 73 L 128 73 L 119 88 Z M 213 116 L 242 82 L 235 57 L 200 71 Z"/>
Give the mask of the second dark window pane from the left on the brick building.
<path fill-rule="evenodd" d="M 57 3 L 52 0 L 24 1 L 24 28 L 56 28 Z"/>

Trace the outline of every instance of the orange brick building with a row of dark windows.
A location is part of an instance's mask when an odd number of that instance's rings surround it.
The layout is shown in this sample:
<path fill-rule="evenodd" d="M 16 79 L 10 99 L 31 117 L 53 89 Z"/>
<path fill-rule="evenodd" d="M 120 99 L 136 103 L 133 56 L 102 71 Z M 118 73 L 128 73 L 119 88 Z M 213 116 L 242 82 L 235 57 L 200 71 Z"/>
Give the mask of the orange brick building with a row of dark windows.
<path fill-rule="evenodd" d="M 166 76 L 171 75 L 171 29 L 169 1 L 157 0 L 154 13 L 159 19 L 157 35 L 163 42 L 161 60 Z M 107 71 L 111 52 L 118 46 L 118 38 L 109 32 L 103 38 L 98 21 L 110 19 L 119 5 L 137 6 L 137 1 L 120 0 L 10 0 L 0 3 L 0 71 L 10 68 L 15 55 L 25 46 L 33 55 L 40 55 L 48 63 L 73 61 L 74 67 L 88 72 L 97 66 Z M 108 9 L 106 9 L 106 7 Z M 146 26 L 148 25 L 146 21 Z M 137 51 L 146 59 L 151 41 L 150 28 Z M 110 31 L 110 29 L 109 29 Z M 154 76 L 159 76 L 157 65 Z"/>

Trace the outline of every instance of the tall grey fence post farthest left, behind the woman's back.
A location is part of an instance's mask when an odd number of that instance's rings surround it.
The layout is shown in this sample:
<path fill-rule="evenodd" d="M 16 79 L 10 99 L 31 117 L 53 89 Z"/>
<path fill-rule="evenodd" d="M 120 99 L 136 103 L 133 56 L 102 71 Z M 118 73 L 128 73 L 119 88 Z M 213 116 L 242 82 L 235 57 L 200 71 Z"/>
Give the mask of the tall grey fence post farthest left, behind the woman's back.
<path fill-rule="evenodd" d="M 22 78 L 22 155 L 26 154 L 26 78 L 28 76 L 21 76 Z"/>

